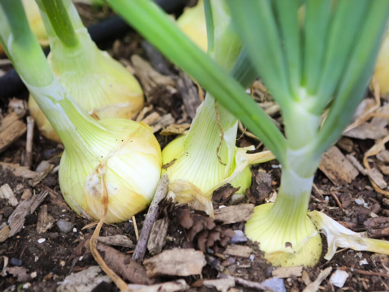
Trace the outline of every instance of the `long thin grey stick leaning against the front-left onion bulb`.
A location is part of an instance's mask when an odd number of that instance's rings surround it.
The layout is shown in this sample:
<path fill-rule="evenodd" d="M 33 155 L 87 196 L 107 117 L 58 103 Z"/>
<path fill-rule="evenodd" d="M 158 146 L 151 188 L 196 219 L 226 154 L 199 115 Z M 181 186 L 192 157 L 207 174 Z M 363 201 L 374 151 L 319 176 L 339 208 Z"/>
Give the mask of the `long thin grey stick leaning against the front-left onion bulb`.
<path fill-rule="evenodd" d="M 155 191 L 154 198 L 151 201 L 149 211 L 147 212 L 146 218 L 143 222 L 142 231 L 140 232 L 139 240 L 135 246 L 132 259 L 137 262 L 141 262 L 145 256 L 147 249 L 147 242 L 151 233 L 151 227 L 154 224 L 155 219 L 158 216 L 159 202 L 166 196 L 166 192 L 169 185 L 169 179 L 166 173 L 164 173 L 158 182 L 157 189 Z"/>

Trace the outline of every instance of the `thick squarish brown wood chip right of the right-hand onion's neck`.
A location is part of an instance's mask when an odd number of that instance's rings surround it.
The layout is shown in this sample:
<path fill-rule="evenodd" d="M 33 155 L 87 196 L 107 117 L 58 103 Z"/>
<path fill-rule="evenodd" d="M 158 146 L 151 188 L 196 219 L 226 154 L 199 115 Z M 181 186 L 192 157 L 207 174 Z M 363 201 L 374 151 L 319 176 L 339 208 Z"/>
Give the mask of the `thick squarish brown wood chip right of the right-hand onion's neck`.
<path fill-rule="evenodd" d="M 331 147 L 323 154 L 319 169 L 324 172 L 335 186 L 349 184 L 359 173 L 336 146 Z"/>

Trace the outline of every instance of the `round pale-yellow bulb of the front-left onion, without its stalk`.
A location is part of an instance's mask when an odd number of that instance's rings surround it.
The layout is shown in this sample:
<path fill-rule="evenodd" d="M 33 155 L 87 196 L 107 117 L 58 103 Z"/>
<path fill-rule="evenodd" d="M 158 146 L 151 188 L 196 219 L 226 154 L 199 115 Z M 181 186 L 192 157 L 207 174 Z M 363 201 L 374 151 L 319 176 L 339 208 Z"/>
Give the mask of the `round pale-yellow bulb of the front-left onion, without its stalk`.
<path fill-rule="evenodd" d="M 105 223 L 117 223 L 151 203 L 161 175 L 161 148 L 146 124 L 126 119 L 104 119 L 98 124 L 109 131 L 108 138 L 94 135 L 98 143 L 82 151 L 66 146 L 59 168 L 60 188 L 77 214 L 95 220 L 101 218 L 106 188 Z"/>

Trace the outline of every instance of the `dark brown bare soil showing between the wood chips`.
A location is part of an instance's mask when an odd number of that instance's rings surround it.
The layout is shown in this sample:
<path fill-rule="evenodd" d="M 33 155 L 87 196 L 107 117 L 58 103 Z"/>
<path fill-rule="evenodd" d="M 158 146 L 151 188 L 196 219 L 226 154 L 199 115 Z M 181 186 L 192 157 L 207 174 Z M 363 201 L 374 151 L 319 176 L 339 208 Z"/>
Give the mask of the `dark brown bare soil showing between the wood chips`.
<path fill-rule="evenodd" d="M 108 48 L 109 53 L 118 60 L 129 60 L 133 53 L 137 53 L 146 60 L 150 60 L 149 56 L 142 47 L 142 39 L 133 32 L 128 33 L 123 38 L 114 42 L 104 44 L 103 46 Z M 179 71 L 168 61 L 165 62 L 167 64 L 168 70 L 170 71 L 170 74 L 173 76 L 179 76 Z M 6 71 L 10 68 L 3 67 L 2 69 Z M 178 89 L 177 91 L 179 92 Z M 161 98 L 154 98 L 151 101 L 154 105 L 153 111 L 158 111 L 158 113 L 161 115 L 170 112 L 173 113 L 173 117 L 176 121 L 181 119 L 181 122 L 191 122 L 191 119 L 182 110 L 182 96 L 179 93 L 175 94 L 173 99 L 171 99 L 172 96 L 167 96 L 166 92 L 162 88 L 160 94 Z M 26 100 L 28 98 L 28 92 L 23 92 L 17 96 L 17 98 Z M 2 115 L 7 113 L 7 104 L 8 100 L 0 101 L 0 112 Z M 277 118 L 277 116 L 275 118 Z M 238 137 L 241 135 L 242 133 L 239 132 Z M 161 147 L 164 147 L 173 138 L 172 136 L 162 136 L 159 134 L 159 132 L 156 133 L 156 137 L 161 143 Z M 5 152 L 0 154 L 0 161 L 21 163 L 22 155 L 25 151 L 25 141 L 26 135 L 21 136 L 21 138 L 14 142 Z M 352 142 L 352 152 L 354 152 L 354 155 L 359 161 L 362 161 L 363 153 L 374 144 L 373 140 L 352 139 Z M 249 138 L 246 135 L 237 140 L 237 145 L 241 147 L 245 147 L 247 145 L 257 146 L 258 144 L 259 142 L 257 140 Z M 259 147 L 256 151 L 259 150 L 263 150 L 263 147 Z M 37 165 L 39 165 L 42 160 L 48 159 L 51 159 L 51 163 L 54 163 L 54 165 L 57 166 L 62 151 L 63 147 L 61 145 L 47 140 L 38 134 L 38 130 L 35 129 L 33 139 L 32 170 L 35 170 Z M 343 151 L 343 153 L 346 154 L 347 152 Z M 270 173 L 272 180 L 274 181 L 272 189 L 277 191 L 280 183 L 280 169 L 275 168 L 275 165 L 278 165 L 277 161 L 263 163 L 261 165 L 254 166 L 253 171 L 261 168 L 267 173 Z M 389 177 L 384 176 L 384 179 L 388 181 Z M 35 188 L 32 188 L 28 184 L 28 181 L 23 177 L 16 177 L 8 170 L 0 170 L 0 186 L 5 183 L 9 184 L 12 189 L 16 188 L 18 185 L 18 187 L 21 189 L 29 188 L 33 193 L 41 192 L 44 189 L 44 186 L 60 193 L 58 172 L 49 174 L 40 184 L 38 184 Z M 375 192 L 371 187 L 369 180 L 361 174 L 359 174 L 356 179 L 354 179 L 354 181 L 352 181 L 352 183 L 348 186 L 334 186 L 332 182 L 329 181 L 329 179 L 318 170 L 315 175 L 314 183 L 319 190 L 322 190 L 324 194 L 330 194 L 331 191 L 336 191 L 338 197 L 341 197 L 342 194 L 349 194 L 350 204 L 347 207 L 343 207 L 342 210 L 338 207 L 338 204 L 333 196 L 324 195 L 324 198 L 321 198 L 320 195 L 312 192 L 311 202 L 309 205 L 310 210 L 320 211 L 321 209 L 324 209 L 325 213 L 333 219 L 356 223 L 359 226 L 363 225 L 363 223 L 368 218 L 370 218 L 369 214 L 373 204 L 375 205 L 375 213 L 378 216 L 389 216 L 389 205 L 387 201 L 385 202 L 384 196 Z M 17 194 L 16 196 L 19 200 L 21 193 Z M 366 206 L 368 206 L 369 209 L 363 205 L 358 205 L 355 202 L 357 198 L 363 199 L 364 202 L 367 203 Z M 248 202 L 248 200 L 246 199 L 243 201 L 243 203 L 244 202 Z M 3 203 L 4 202 L 0 202 L 0 205 L 3 205 Z M 10 260 L 13 259 L 12 262 L 16 262 L 15 259 L 19 260 L 20 262 L 17 263 L 19 266 L 28 269 L 28 273 L 36 272 L 36 276 L 32 280 L 28 281 L 28 283 L 31 284 L 30 286 L 25 285 L 27 283 L 25 281 L 19 282 L 17 277 L 12 275 L 2 277 L 0 278 L 0 291 L 54 291 L 58 287 L 58 284 L 63 281 L 64 278 L 70 273 L 81 271 L 91 265 L 96 265 L 96 262 L 93 259 L 90 251 L 86 250 L 85 246 L 82 247 L 81 253 L 79 253 L 79 251 L 76 249 L 80 242 L 85 241 L 87 238 L 89 238 L 88 236 L 93 233 L 94 227 L 82 230 L 82 228 L 90 222 L 87 219 L 77 216 L 74 212 L 54 204 L 48 198 L 46 198 L 41 205 L 47 205 L 48 214 L 53 216 L 56 221 L 59 219 L 65 219 L 74 223 L 76 230 L 73 230 L 73 232 L 68 234 L 63 234 L 59 232 L 58 227 L 54 224 L 54 227 L 52 227 L 50 230 L 47 230 L 47 232 L 44 234 L 37 234 L 36 223 L 39 208 L 33 214 L 26 216 L 26 221 L 22 230 L 11 238 L 0 243 L 0 255 L 8 257 Z M 9 206 L 3 206 L 0 208 L 0 224 L 7 220 L 13 209 L 13 207 Z M 147 214 L 147 210 L 135 216 L 137 228 L 140 231 L 142 230 L 145 214 Z M 233 230 L 242 230 L 244 229 L 244 224 L 234 223 L 229 225 L 229 227 Z M 132 221 L 127 221 L 120 224 L 103 225 L 101 232 L 102 236 L 114 234 L 128 235 L 133 242 L 137 242 Z M 181 227 L 177 221 L 170 221 L 167 236 L 171 239 L 166 241 L 166 244 L 163 248 L 164 250 L 177 247 L 187 247 L 189 244 L 185 236 L 184 228 Z M 46 241 L 39 243 L 38 240 L 41 238 L 45 238 Z M 386 237 L 384 239 L 389 238 Z M 325 240 L 323 240 L 323 242 L 325 243 Z M 261 282 L 267 278 L 270 278 L 274 267 L 272 267 L 271 264 L 269 264 L 261 257 L 261 251 L 259 251 L 259 248 L 256 244 L 252 244 L 251 242 L 247 242 L 245 244 L 253 248 L 255 254 L 254 260 L 251 262 L 248 259 L 236 258 L 236 262 L 239 262 L 240 265 L 247 264 L 247 266 L 250 267 L 242 268 L 237 264 L 234 264 L 228 267 L 228 272 L 231 275 L 256 282 Z M 191 244 L 189 244 L 189 246 L 190 245 Z M 122 253 L 131 253 L 132 250 L 131 248 L 117 249 Z M 325 251 L 326 249 L 324 248 L 323 255 Z M 339 267 L 347 268 L 349 277 L 347 278 L 342 289 L 339 289 L 330 284 L 329 277 L 327 277 L 321 283 L 320 290 L 322 291 L 388 290 L 389 275 L 387 277 L 375 276 L 371 275 L 370 272 L 384 273 L 386 270 L 389 271 L 387 268 L 389 260 L 387 257 L 380 257 L 379 259 L 377 259 L 377 257 L 372 258 L 372 255 L 373 253 L 370 252 L 342 250 L 336 253 L 336 255 L 329 262 L 324 260 L 322 257 L 321 261 L 315 267 L 304 269 L 308 272 L 310 279 L 313 281 L 320 273 L 320 271 L 326 267 L 333 267 L 333 271 Z M 146 258 L 148 257 L 150 257 L 150 255 L 147 253 Z M 366 259 L 368 264 L 360 265 L 360 261 L 363 259 Z M 356 272 L 355 269 L 365 271 L 367 274 Z M 211 265 L 206 265 L 203 268 L 203 279 L 214 279 L 217 277 L 217 275 L 217 270 L 214 269 L 214 267 Z M 172 278 L 162 278 L 162 280 L 171 279 Z M 199 276 L 185 277 L 185 280 L 189 285 L 198 279 Z M 302 278 L 296 276 L 286 278 L 284 280 L 284 284 L 287 291 L 303 290 L 306 287 Z M 250 288 L 245 288 L 238 285 L 235 288 L 243 291 L 252 290 Z M 107 284 L 104 282 L 98 285 L 93 291 L 117 290 L 118 289 L 114 284 Z M 214 289 L 205 287 L 192 287 L 190 290 L 210 291 Z"/>

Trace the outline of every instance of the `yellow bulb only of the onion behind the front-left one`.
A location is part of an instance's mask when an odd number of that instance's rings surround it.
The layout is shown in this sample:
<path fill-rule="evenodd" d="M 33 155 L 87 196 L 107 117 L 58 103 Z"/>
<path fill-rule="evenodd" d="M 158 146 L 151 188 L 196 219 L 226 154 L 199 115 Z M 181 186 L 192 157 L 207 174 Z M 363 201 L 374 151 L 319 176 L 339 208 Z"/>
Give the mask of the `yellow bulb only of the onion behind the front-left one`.
<path fill-rule="evenodd" d="M 48 61 L 65 90 L 95 119 L 132 119 L 144 106 L 143 91 L 136 78 L 95 44 L 86 59 L 69 59 L 69 64 L 64 65 L 50 53 Z M 42 134 L 61 142 L 31 96 L 28 108 Z"/>

